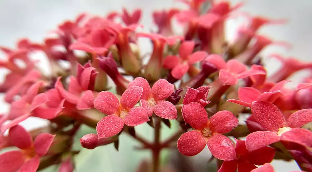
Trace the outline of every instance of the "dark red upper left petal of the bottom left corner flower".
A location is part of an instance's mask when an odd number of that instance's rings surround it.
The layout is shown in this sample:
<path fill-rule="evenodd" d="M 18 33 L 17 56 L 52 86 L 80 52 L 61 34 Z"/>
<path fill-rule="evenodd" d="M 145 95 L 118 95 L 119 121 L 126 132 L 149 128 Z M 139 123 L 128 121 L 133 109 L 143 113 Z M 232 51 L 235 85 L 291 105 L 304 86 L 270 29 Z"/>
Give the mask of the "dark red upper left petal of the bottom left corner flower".
<path fill-rule="evenodd" d="M 10 128 L 9 141 L 20 149 L 32 147 L 32 136 L 20 125 Z"/>

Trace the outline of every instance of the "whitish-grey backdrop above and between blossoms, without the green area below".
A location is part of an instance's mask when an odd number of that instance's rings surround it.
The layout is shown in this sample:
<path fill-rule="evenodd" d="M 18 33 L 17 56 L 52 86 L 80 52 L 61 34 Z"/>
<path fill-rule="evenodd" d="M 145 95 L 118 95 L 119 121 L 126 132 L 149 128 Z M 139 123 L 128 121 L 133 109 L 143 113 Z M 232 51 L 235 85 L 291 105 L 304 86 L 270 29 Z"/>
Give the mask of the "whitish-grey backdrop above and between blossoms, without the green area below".
<path fill-rule="evenodd" d="M 240 2 L 232 0 L 233 4 Z M 143 10 L 144 30 L 152 26 L 151 12 L 155 9 L 180 7 L 173 0 L 0 0 L 0 45 L 14 47 L 16 40 L 28 37 L 32 41 L 41 42 L 48 32 L 55 29 L 57 24 L 65 19 L 74 19 L 80 12 L 105 15 L 111 10 L 121 11 L 127 7 L 129 11 L 140 7 Z M 310 0 L 246 0 L 241 11 L 251 12 L 254 15 L 263 15 L 271 18 L 287 18 L 286 25 L 265 26 L 261 34 L 270 36 L 274 40 L 288 41 L 293 49 L 268 47 L 261 54 L 281 53 L 285 56 L 294 56 L 304 61 L 312 61 L 312 2 Z M 227 36 L 233 38 L 235 30 L 243 20 L 232 19 L 227 25 Z M 150 51 L 151 47 L 140 44 L 142 52 Z M 142 46 L 144 45 L 144 47 Z M 1 56 L 2 57 L 2 56 Z M 36 58 L 41 58 L 37 56 Z M 272 73 L 279 63 L 274 59 L 266 60 L 268 72 Z M 42 63 L 45 67 L 45 63 Z M 0 80 L 3 80 L 4 70 L 0 70 Z M 299 81 L 294 78 L 294 80 Z M 3 95 L 0 96 L 3 98 Z M 6 112 L 8 106 L 1 102 L 0 112 Z M 38 121 L 27 121 L 25 126 L 34 126 Z M 294 164 L 274 163 L 276 172 L 298 170 Z"/>

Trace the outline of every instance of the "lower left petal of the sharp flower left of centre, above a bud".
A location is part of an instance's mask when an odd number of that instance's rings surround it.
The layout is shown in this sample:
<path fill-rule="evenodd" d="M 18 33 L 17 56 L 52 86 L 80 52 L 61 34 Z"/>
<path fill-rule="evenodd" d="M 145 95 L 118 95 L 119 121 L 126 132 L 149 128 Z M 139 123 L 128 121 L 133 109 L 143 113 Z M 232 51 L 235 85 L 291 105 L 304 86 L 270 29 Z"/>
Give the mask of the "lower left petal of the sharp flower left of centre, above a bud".
<path fill-rule="evenodd" d="M 99 138 L 112 137 L 118 134 L 124 127 L 124 120 L 117 115 L 108 115 L 102 118 L 96 125 Z"/>

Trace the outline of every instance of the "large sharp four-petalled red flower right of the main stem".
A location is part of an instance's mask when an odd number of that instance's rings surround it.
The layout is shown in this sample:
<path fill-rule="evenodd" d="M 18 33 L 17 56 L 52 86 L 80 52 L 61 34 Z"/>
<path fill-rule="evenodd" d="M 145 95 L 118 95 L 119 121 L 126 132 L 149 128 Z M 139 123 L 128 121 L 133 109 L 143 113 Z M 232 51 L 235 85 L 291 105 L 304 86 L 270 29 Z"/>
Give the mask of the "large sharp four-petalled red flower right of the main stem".
<path fill-rule="evenodd" d="M 180 153 L 194 156 L 207 144 L 211 154 L 216 158 L 236 159 L 232 141 L 219 134 L 230 132 L 238 125 L 238 119 L 230 111 L 219 111 L 208 119 L 205 108 L 197 102 L 191 102 L 183 106 L 182 113 L 185 123 L 189 123 L 196 130 L 188 131 L 178 139 Z"/>

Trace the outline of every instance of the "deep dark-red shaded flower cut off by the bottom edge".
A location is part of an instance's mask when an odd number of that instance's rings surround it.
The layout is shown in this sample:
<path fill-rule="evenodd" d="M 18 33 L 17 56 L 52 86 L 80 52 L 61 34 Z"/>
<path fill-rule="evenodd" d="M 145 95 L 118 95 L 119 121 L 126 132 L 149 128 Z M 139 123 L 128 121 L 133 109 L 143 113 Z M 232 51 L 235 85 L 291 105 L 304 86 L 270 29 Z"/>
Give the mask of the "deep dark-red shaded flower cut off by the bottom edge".
<path fill-rule="evenodd" d="M 236 140 L 235 152 L 237 158 L 224 161 L 218 172 L 250 172 L 257 168 L 255 165 L 271 162 L 275 155 L 275 150 L 268 146 L 249 152 L 244 140 Z"/>

